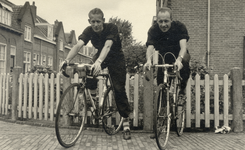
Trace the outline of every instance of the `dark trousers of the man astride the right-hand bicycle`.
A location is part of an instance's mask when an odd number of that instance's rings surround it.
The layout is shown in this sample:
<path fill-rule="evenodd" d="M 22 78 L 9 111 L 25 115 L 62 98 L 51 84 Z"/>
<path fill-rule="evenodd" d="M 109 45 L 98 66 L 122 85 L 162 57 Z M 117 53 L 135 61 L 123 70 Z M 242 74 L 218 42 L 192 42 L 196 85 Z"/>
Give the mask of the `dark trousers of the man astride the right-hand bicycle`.
<path fill-rule="evenodd" d="M 189 53 L 188 53 L 188 55 L 189 55 Z M 185 88 L 186 88 L 186 85 L 187 85 L 187 81 L 188 81 L 188 79 L 190 77 L 189 61 L 190 61 L 190 59 L 183 59 L 182 60 L 183 68 L 180 70 L 180 76 L 182 78 L 181 85 L 180 85 L 180 93 L 181 94 L 185 94 Z M 171 59 L 171 58 L 165 60 L 165 63 L 173 64 L 174 62 L 175 62 L 175 60 Z M 162 64 L 162 60 L 161 59 L 159 59 L 159 64 Z M 158 71 L 157 71 L 157 85 L 163 83 L 163 76 L 164 76 L 164 73 L 163 73 L 162 68 L 158 68 Z"/>

